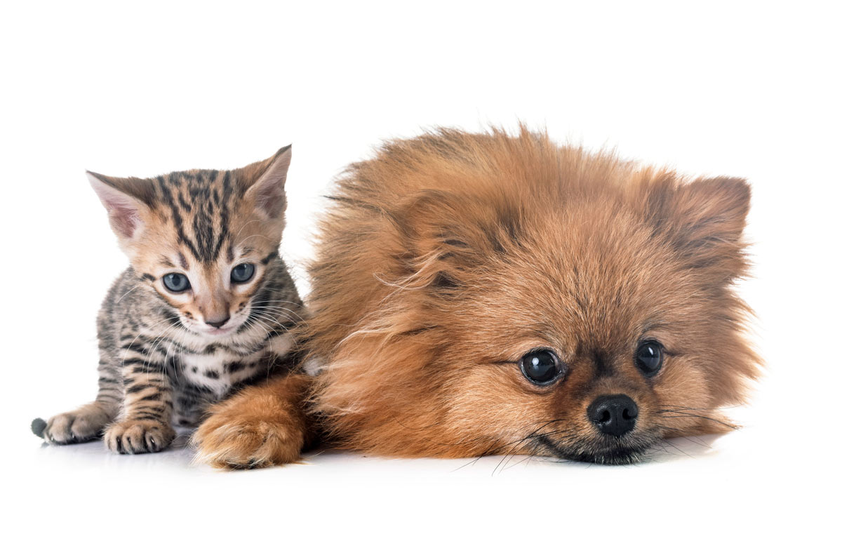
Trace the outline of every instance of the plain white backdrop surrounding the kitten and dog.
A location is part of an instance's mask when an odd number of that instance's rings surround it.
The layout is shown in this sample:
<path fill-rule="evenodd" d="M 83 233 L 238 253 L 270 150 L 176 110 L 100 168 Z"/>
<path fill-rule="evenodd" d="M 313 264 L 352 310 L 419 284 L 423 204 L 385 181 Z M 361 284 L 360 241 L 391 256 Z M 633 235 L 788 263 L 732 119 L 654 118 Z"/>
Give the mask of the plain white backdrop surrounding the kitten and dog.
<path fill-rule="evenodd" d="M 834 3 L 4 3 L 0 46 L 8 552 L 839 549 Z M 632 467 L 325 453 L 257 472 L 29 433 L 93 398 L 94 318 L 125 266 L 84 169 L 235 168 L 294 143 L 283 252 L 306 291 L 344 165 L 424 126 L 518 120 L 754 185 L 742 291 L 767 365 L 743 430 Z"/>

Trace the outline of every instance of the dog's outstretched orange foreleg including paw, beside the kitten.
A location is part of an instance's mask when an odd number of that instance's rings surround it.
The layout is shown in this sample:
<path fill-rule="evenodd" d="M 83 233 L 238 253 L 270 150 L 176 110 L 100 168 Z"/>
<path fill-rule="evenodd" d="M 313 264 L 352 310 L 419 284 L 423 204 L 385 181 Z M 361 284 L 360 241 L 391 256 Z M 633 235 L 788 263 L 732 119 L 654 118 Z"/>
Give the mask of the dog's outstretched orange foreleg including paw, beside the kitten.
<path fill-rule="evenodd" d="M 217 468 L 296 462 L 314 436 L 304 410 L 311 382 L 305 374 L 288 374 L 216 403 L 193 435 L 195 462 Z"/>

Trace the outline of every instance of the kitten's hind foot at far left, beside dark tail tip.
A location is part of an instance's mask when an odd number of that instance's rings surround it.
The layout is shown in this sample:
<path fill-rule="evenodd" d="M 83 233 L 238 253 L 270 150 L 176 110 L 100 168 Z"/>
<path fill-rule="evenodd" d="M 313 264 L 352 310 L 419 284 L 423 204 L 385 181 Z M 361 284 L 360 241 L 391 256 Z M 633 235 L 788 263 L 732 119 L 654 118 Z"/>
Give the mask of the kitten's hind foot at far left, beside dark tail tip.
<path fill-rule="evenodd" d="M 115 403 L 94 401 L 68 413 L 57 414 L 47 422 L 35 419 L 32 431 L 56 445 L 82 443 L 98 438 L 105 426 L 115 419 L 118 410 Z"/>

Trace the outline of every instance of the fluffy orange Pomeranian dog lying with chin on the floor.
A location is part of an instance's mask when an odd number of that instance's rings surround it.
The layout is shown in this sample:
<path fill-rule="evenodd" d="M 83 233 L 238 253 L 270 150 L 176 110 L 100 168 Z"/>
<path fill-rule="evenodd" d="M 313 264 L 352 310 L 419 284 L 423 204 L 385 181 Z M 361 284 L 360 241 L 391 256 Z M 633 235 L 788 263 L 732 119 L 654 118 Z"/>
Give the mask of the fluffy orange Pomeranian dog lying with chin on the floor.
<path fill-rule="evenodd" d="M 388 143 L 321 223 L 301 336 L 320 371 L 217 406 L 199 457 L 290 462 L 318 434 L 381 456 L 621 464 L 730 430 L 717 409 L 759 371 L 733 291 L 749 197 L 523 127 Z"/>

